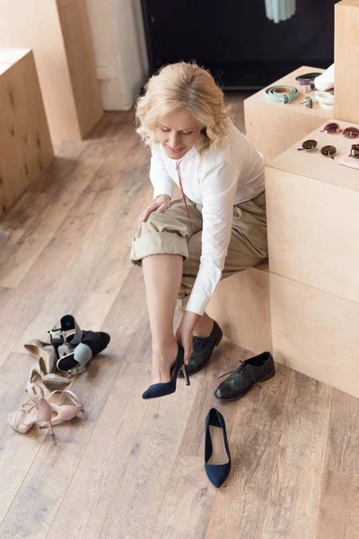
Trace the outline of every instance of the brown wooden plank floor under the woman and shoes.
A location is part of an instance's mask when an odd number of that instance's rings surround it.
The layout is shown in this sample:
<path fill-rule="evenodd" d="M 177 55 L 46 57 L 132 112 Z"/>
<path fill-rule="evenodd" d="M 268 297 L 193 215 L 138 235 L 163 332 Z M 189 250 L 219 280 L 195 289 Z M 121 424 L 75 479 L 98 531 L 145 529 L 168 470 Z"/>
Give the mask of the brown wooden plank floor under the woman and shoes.
<path fill-rule="evenodd" d="M 241 100 L 234 100 L 242 124 Z M 0 221 L 0 537 L 357 539 L 358 400 L 278 366 L 239 402 L 215 401 L 218 376 L 250 351 L 223 340 L 206 371 L 145 402 L 151 338 L 142 270 L 129 261 L 151 198 L 149 155 L 131 113 L 108 113 Z M 13 431 L 31 358 L 61 315 L 109 331 L 106 354 L 72 389 L 84 411 L 57 427 Z M 235 321 L 233 321 L 235 323 Z M 330 358 L 328 358 L 328 361 Z M 232 473 L 204 473 L 204 422 L 223 412 Z"/>

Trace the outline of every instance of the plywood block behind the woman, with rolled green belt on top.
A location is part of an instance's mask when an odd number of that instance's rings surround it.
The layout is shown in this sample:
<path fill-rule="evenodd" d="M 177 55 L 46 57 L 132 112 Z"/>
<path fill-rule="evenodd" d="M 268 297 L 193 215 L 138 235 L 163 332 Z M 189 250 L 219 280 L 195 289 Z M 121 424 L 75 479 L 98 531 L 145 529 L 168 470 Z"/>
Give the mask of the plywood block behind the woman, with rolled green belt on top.
<path fill-rule="evenodd" d="M 268 101 L 266 89 L 260 90 L 244 101 L 247 137 L 265 156 L 266 162 L 333 116 L 333 111 L 322 109 L 318 102 L 313 102 L 312 109 L 301 104 L 310 93 L 306 93 L 306 87 L 300 86 L 295 77 L 313 71 L 323 70 L 302 66 L 276 83 L 270 84 L 270 86 L 276 84 L 296 86 L 300 97 L 291 103 Z"/>

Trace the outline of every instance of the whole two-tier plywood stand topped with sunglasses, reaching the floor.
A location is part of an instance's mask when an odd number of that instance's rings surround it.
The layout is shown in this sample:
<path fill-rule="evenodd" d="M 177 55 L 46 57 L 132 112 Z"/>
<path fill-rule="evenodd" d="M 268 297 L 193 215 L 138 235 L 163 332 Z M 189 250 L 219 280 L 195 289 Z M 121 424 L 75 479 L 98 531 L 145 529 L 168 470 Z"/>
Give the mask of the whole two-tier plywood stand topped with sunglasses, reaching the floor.
<path fill-rule="evenodd" d="M 339 155 L 298 152 L 309 138 Z M 274 357 L 359 397 L 359 170 L 337 162 L 354 143 L 314 130 L 268 164 L 266 193 Z"/>

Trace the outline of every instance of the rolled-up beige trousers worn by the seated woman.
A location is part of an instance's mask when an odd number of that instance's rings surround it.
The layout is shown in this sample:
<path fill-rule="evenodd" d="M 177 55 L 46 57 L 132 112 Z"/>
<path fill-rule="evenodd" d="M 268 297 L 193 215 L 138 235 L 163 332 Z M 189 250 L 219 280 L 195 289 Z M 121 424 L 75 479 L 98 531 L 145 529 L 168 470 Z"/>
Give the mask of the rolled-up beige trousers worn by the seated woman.
<path fill-rule="evenodd" d="M 197 277 L 202 252 L 202 206 L 187 199 L 189 219 L 182 199 L 173 200 L 164 213 L 153 212 L 132 241 L 131 261 L 141 266 L 152 254 L 183 256 L 183 276 L 177 309 L 185 308 Z M 233 206 L 232 236 L 222 278 L 257 266 L 267 259 L 266 194 Z"/>

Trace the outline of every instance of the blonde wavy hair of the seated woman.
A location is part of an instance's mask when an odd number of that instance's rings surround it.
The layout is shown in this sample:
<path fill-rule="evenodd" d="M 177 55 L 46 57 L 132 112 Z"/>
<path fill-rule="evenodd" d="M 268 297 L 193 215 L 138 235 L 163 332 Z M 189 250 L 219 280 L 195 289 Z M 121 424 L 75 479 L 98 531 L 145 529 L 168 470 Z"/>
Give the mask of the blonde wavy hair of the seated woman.
<path fill-rule="evenodd" d="M 213 76 L 197 66 L 179 62 L 162 67 L 145 84 L 145 93 L 136 102 L 137 133 L 144 144 L 156 142 L 158 120 L 174 110 L 189 110 L 202 126 L 205 138 L 198 143 L 199 153 L 215 150 L 227 135 L 229 108 Z"/>

